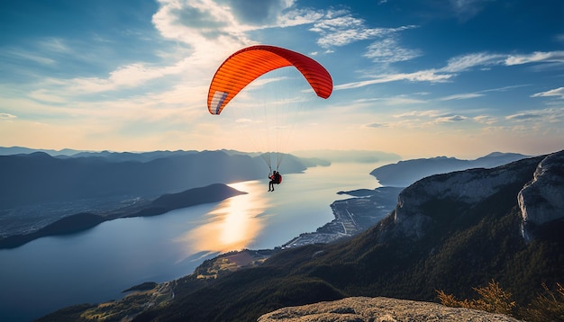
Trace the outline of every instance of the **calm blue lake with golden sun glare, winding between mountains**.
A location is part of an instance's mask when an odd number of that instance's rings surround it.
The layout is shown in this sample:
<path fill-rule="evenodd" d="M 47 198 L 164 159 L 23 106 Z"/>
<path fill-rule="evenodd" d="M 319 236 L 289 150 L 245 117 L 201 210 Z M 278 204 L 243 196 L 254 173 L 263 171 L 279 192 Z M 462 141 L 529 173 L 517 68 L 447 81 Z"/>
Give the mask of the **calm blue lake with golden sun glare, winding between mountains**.
<path fill-rule="evenodd" d="M 337 163 L 268 180 L 230 184 L 249 192 L 156 217 L 114 219 L 73 235 L 0 250 L 0 321 L 29 321 L 73 304 L 123 297 L 141 282 L 193 273 L 223 252 L 281 246 L 333 219 L 337 192 L 374 189 L 383 164 Z"/>

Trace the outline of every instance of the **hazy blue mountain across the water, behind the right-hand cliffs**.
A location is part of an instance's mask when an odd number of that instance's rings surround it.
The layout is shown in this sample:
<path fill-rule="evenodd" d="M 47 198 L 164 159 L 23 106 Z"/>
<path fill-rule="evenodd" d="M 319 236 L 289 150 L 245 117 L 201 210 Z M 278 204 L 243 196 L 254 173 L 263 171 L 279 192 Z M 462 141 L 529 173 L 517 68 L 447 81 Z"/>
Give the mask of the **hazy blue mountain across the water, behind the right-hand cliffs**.
<path fill-rule="evenodd" d="M 406 187 L 432 174 L 446 174 L 477 167 L 491 168 L 525 157 L 527 156 L 517 153 L 494 152 L 485 157 L 478 157 L 476 160 L 459 160 L 455 157 L 420 158 L 383 165 L 374 169 L 370 174 L 374 175 L 381 184 Z"/>

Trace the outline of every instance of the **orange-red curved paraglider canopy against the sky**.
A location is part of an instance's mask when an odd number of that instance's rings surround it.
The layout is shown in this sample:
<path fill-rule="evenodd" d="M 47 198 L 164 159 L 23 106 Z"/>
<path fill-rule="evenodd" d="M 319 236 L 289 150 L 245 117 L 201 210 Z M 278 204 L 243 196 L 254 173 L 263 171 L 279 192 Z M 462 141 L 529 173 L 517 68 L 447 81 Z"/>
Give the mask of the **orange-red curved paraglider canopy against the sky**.
<path fill-rule="evenodd" d="M 269 71 L 290 66 L 302 73 L 319 97 L 328 98 L 332 94 L 331 75 L 314 59 L 289 49 L 257 45 L 233 53 L 217 69 L 207 94 L 209 112 L 220 114 L 250 82 Z"/>

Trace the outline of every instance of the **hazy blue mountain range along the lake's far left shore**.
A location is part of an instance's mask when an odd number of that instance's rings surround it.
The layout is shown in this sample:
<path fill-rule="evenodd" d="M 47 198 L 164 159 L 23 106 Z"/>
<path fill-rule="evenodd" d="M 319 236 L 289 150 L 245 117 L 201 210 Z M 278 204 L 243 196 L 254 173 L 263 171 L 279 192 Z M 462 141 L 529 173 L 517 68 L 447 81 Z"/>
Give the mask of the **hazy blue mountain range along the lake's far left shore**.
<path fill-rule="evenodd" d="M 151 154 L 158 155 L 159 152 Z M 231 183 L 266 177 L 260 157 L 228 155 L 222 151 L 168 153 L 166 157 L 50 157 L 44 152 L 0 156 L 0 209 L 41 202 L 76 201 L 108 195 L 158 196 L 211 183 Z M 307 162 L 307 161 L 305 161 Z M 288 156 L 284 173 L 306 166 Z"/>

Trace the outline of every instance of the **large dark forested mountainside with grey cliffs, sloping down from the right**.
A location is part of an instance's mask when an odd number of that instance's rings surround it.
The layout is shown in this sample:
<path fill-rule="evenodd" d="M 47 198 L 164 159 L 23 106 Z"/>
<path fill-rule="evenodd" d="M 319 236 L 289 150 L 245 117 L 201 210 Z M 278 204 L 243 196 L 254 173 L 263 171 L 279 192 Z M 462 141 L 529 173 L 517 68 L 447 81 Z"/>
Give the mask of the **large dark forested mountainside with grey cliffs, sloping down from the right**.
<path fill-rule="evenodd" d="M 563 173 L 560 151 L 426 177 L 356 237 L 280 250 L 235 272 L 221 269 L 225 256 L 206 261 L 170 283 L 174 299 L 133 321 L 256 321 L 282 307 L 346 297 L 433 301 L 436 290 L 471 298 L 473 287 L 492 279 L 524 306 L 543 282 L 564 278 Z M 83 311 L 62 309 L 44 320 Z"/>

